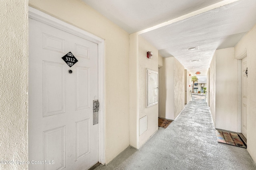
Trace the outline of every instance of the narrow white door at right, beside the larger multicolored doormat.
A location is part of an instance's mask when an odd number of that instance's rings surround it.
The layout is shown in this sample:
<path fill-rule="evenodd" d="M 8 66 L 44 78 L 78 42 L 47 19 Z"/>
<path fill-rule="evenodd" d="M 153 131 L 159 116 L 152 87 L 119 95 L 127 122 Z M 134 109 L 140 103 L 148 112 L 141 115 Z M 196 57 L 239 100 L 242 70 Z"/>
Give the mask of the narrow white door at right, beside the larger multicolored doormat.
<path fill-rule="evenodd" d="M 242 59 L 242 134 L 247 138 L 247 57 Z"/>

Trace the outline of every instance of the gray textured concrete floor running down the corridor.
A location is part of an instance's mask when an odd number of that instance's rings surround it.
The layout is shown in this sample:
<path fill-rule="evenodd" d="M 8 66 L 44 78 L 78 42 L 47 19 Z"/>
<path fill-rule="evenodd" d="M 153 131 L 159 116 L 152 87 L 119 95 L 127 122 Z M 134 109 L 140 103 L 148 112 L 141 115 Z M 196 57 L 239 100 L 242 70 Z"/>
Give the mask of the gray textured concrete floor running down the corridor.
<path fill-rule="evenodd" d="M 139 150 L 128 147 L 96 170 L 256 170 L 244 148 L 218 143 L 209 107 L 190 101 Z"/>

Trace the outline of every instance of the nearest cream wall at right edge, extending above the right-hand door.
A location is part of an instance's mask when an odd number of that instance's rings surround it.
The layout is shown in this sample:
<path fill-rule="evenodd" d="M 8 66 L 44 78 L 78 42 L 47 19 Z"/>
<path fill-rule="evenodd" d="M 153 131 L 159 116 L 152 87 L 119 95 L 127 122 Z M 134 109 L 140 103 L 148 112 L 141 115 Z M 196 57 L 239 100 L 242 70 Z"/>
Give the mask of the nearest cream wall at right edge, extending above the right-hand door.
<path fill-rule="evenodd" d="M 248 98 L 247 98 L 247 150 L 256 162 L 256 25 L 235 46 L 235 58 L 247 53 Z"/>

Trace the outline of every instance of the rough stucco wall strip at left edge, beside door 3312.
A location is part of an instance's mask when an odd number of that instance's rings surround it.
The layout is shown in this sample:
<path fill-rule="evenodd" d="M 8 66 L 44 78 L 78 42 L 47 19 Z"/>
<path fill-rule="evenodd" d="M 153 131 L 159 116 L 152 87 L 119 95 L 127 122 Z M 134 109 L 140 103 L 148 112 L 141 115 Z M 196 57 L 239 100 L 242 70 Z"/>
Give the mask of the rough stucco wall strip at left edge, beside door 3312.
<path fill-rule="evenodd" d="M 0 8 L 0 160 L 28 161 L 28 2 L 0 1 Z"/>

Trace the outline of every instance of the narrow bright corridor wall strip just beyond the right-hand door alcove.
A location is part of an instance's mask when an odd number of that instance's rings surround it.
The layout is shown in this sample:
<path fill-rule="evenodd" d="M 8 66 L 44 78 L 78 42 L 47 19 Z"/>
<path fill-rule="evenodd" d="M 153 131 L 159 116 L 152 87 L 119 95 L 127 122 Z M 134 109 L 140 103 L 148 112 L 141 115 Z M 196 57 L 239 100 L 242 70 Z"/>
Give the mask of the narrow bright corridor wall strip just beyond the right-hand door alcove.
<path fill-rule="evenodd" d="M 212 57 L 209 68 L 209 88 L 208 88 L 209 106 L 212 114 L 212 120 L 215 125 L 216 114 L 216 55 Z"/>

